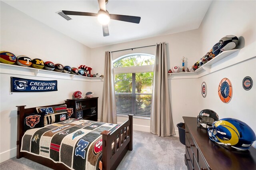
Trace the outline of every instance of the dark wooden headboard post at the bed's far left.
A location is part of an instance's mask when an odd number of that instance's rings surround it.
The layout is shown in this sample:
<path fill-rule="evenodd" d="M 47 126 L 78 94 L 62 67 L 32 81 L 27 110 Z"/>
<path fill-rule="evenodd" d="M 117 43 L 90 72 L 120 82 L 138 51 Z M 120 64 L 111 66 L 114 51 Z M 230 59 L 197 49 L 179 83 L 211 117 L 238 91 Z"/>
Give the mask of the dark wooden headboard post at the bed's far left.
<path fill-rule="evenodd" d="M 21 141 L 22 141 L 22 136 L 24 134 L 24 125 L 21 125 L 22 123 L 24 124 L 24 109 L 26 105 L 23 106 L 16 106 L 18 107 L 17 110 L 17 155 L 16 158 L 22 158 L 22 152 L 20 152 L 21 149 Z M 21 114 L 20 114 L 21 113 Z"/>

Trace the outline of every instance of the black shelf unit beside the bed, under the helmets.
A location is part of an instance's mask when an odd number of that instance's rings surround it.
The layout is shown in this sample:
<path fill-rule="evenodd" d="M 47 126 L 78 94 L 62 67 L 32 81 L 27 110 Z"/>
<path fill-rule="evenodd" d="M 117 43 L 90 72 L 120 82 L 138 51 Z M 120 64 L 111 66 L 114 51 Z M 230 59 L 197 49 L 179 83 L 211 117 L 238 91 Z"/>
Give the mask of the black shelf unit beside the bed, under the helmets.
<path fill-rule="evenodd" d="M 65 103 L 73 108 L 72 118 L 98 121 L 98 97 L 67 99 Z"/>

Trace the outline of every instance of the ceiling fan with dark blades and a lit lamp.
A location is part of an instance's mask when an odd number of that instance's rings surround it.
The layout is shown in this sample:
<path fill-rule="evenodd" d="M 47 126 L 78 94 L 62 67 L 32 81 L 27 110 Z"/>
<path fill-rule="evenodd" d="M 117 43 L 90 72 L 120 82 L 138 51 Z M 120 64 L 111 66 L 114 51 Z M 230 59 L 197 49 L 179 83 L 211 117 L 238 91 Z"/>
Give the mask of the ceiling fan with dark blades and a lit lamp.
<path fill-rule="evenodd" d="M 109 14 L 106 10 L 106 4 L 108 3 L 108 0 L 98 0 L 100 10 L 98 13 L 90 13 L 90 12 L 76 12 L 76 11 L 65 11 L 62 10 L 62 12 L 66 15 L 78 15 L 78 16 L 97 16 L 99 22 L 102 24 L 103 29 L 103 36 L 109 36 L 108 32 L 108 22 L 110 19 L 112 20 L 119 20 L 119 21 L 125 21 L 125 22 L 132 22 L 139 24 L 140 23 L 140 17 L 138 16 L 127 16 L 127 15 L 118 15 L 118 14 Z"/>

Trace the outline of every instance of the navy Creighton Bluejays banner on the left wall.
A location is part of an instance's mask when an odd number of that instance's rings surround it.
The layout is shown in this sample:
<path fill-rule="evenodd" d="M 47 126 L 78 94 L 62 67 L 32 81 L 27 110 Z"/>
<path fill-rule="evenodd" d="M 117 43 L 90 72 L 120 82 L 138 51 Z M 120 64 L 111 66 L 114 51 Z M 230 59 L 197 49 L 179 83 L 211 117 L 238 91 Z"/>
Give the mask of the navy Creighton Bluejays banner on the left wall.
<path fill-rule="evenodd" d="M 11 92 L 58 91 L 57 80 L 31 80 L 11 77 Z"/>

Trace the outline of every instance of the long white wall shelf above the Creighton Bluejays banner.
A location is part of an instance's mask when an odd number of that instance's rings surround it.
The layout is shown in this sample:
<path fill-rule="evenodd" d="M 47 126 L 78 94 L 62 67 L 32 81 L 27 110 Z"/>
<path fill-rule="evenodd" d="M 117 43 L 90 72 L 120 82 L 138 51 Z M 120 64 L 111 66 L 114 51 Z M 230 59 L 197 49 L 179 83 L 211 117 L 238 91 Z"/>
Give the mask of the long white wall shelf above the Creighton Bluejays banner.
<path fill-rule="evenodd" d="M 14 75 L 28 75 L 35 77 L 48 77 L 54 79 L 68 79 L 76 81 L 103 81 L 103 77 L 85 77 L 82 75 L 74 75 L 57 71 L 48 71 L 44 69 L 35 69 L 32 67 L 22 67 L 19 65 L 11 65 L 0 63 L 0 73 Z"/>

